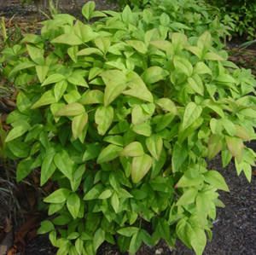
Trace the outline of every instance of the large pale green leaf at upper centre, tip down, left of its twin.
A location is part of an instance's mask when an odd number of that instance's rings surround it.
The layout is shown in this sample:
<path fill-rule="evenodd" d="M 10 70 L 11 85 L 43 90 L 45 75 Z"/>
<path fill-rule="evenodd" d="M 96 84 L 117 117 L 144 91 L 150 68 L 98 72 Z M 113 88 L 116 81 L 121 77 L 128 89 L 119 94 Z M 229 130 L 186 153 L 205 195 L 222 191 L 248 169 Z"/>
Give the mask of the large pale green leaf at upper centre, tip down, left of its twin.
<path fill-rule="evenodd" d="M 119 70 L 108 70 L 101 74 L 106 89 L 104 92 L 104 106 L 114 101 L 126 88 L 125 73 Z"/>

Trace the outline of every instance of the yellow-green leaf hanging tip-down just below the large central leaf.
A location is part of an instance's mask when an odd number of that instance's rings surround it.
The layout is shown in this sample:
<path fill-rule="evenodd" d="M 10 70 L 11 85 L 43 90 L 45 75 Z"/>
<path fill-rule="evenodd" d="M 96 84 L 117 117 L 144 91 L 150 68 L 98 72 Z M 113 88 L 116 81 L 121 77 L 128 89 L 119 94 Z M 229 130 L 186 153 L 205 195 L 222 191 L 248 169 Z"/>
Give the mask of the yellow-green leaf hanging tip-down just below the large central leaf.
<path fill-rule="evenodd" d="M 113 107 L 98 107 L 95 113 L 98 133 L 104 136 L 113 122 Z"/>

